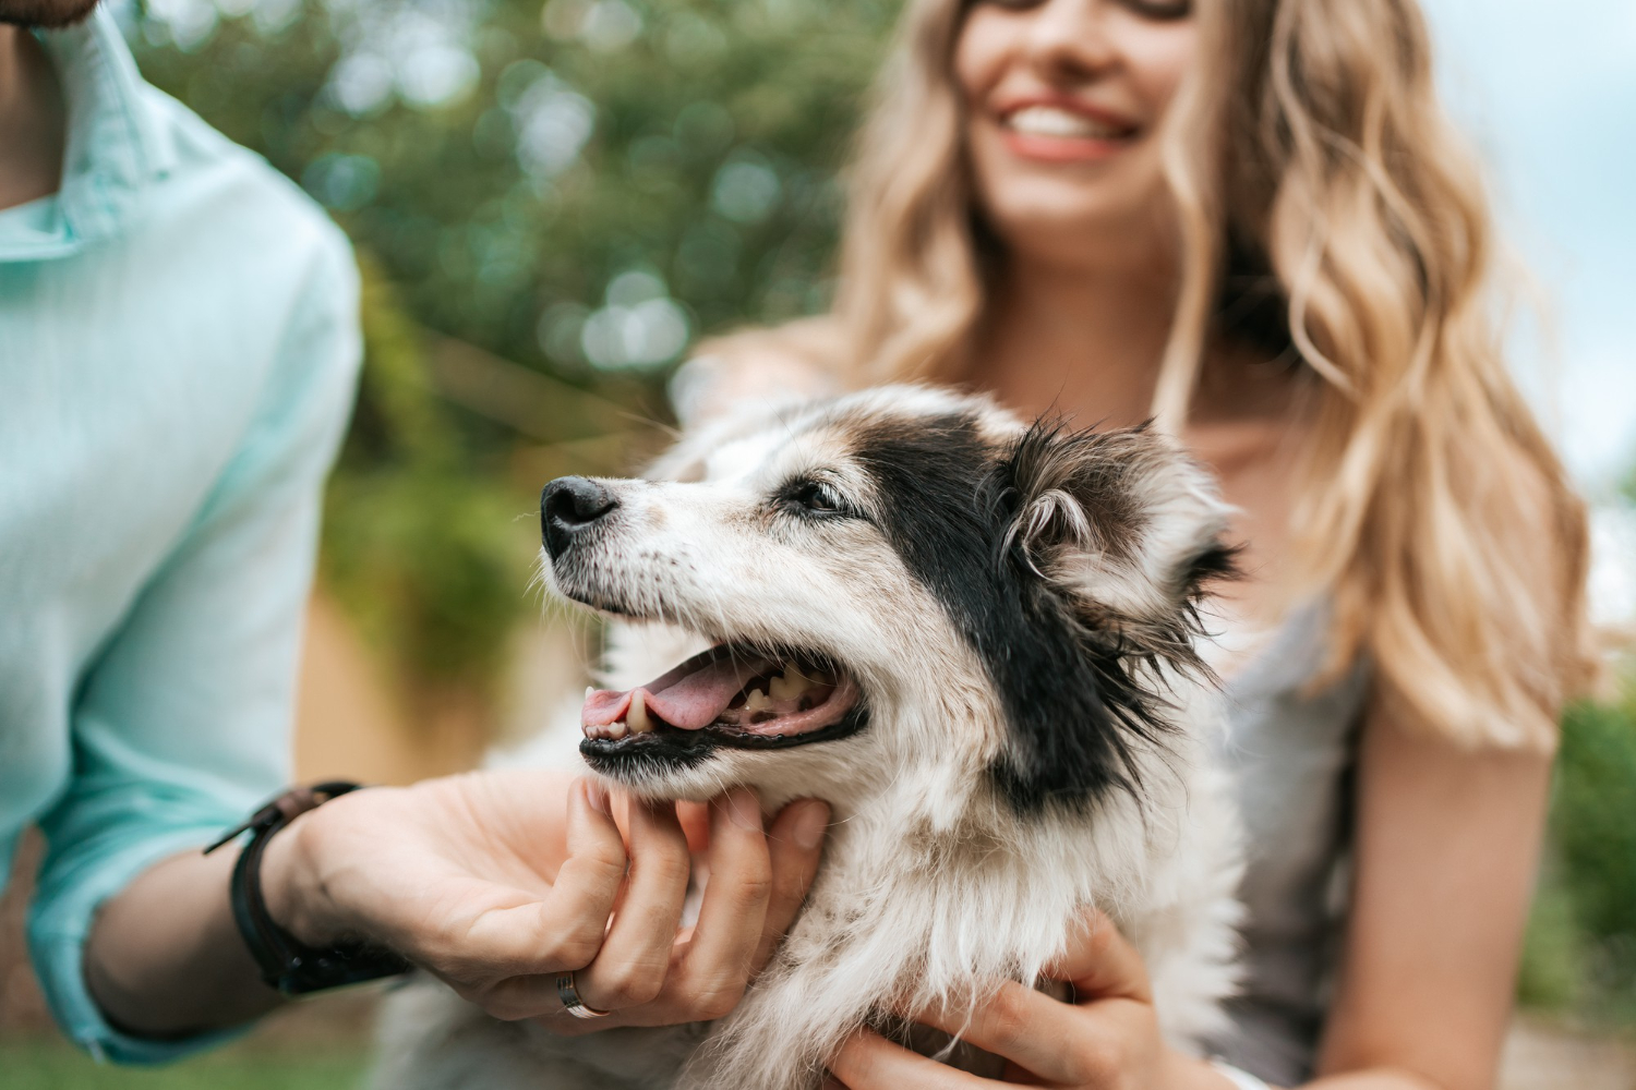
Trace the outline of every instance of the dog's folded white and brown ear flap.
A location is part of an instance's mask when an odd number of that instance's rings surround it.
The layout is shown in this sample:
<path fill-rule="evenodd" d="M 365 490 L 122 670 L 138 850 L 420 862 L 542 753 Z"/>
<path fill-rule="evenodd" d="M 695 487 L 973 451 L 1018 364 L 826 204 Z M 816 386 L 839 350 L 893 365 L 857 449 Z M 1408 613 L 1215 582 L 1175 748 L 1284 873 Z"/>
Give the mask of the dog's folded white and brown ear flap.
<path fill-rule="evenodd" d="M 1008 552 L 1127 642 L 1189 624 L 1207 583 L 1232 574 L 1214 477 L 1147 425 L 1036 423 L 1011 446 L 1005 476 Z"/>

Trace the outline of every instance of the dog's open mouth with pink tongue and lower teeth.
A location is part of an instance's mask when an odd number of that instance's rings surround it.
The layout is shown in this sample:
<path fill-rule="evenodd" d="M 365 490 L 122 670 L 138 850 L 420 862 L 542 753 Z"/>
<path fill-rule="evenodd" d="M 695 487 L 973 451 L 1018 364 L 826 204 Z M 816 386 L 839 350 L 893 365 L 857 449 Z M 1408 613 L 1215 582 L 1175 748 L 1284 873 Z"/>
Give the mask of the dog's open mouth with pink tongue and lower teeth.
<path fill-rule="evenodd" d="M 617 755 L 667 742 L 777 748 L 852 734 L 857 683 L 802 652 L 767 654 L 721 644 L 633 690 L 587 690 L 581 752 Z"/>

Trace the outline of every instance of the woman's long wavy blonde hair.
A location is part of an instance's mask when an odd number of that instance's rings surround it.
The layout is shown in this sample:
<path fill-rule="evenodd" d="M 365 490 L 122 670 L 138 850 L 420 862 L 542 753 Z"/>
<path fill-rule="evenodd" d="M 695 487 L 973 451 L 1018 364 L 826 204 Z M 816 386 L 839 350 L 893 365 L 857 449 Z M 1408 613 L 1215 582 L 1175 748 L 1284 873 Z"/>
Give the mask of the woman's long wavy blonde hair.
<path fill-rule="evenodd" d="M 1333 601 L 1327 677 L 1368 654 L 1404 721 L 1549 747 L 1595 660 L 1585 513 L 1505 368 L 1485 194 L 1422 13 L 1198 7 L 1204 60 L 1163 136 L 1181 275 L 1155 412 L 1184 420 L 1229 289 L 1274 299 L 1317 387 L 1294 533 L 1297 590 Z M 1001 275 L 951 64 L 967 8 L 905 11 L 851 172 L 833 310 L 705 351 L 846 384 L 960 377 Z"/>

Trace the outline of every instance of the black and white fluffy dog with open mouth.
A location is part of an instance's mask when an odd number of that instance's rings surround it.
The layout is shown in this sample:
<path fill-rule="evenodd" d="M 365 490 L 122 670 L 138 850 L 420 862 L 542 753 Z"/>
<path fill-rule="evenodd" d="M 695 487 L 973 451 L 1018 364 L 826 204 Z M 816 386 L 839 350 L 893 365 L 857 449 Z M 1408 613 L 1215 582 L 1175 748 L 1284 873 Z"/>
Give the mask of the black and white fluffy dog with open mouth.
<path fill-rule="evenodd" d="M 703 1033 L 558 1038 L 416 985 L 376 1085 L 808 1090 L 885 1012 L 1037 981 L 1086 905 L 1176 1044 L 1219 1030 L 1240 855 L 1196 644 L 1224 515 L 1155 431 L 923 387 L 723 422 L 648 480 L 551 482 L 551 587 L 674 655 L 587 696 L 584 762 L 649 797 L 826 799 L 825 863 Z"/>

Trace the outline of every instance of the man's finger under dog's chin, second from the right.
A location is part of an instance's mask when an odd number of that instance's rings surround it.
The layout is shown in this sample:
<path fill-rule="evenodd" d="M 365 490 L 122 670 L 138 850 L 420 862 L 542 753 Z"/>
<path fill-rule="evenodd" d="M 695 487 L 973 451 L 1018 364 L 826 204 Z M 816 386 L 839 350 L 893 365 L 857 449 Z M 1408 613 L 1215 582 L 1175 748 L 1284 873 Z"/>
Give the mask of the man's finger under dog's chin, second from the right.
<path fill-rule="evenodd" d="M 753 791 L 738 788 L 712 807 L 708 861 L 679 997 L 695 1018 L 720 1018 L 738 1003 L 767 918 L 772 861 Z"/>

